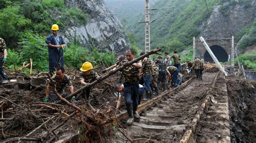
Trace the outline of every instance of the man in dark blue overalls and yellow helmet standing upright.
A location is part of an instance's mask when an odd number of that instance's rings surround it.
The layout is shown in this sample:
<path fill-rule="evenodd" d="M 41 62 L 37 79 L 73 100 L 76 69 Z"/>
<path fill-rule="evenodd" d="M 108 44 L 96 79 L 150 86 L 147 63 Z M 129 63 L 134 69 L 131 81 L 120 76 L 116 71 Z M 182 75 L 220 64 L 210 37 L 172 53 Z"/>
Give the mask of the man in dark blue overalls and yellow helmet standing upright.
<path fill-rule="evenodd" d="M 64 47 L 66 47 L 63 38 L 58 35 L 59 26 L 53 24 L 51 27 L 52 34 L 48 35 L 45 42 L 48 44 L 48 54 L 49 54 L 49 71 L 53 75 L 53 72 L 58 67 L 64 66 Z"/>

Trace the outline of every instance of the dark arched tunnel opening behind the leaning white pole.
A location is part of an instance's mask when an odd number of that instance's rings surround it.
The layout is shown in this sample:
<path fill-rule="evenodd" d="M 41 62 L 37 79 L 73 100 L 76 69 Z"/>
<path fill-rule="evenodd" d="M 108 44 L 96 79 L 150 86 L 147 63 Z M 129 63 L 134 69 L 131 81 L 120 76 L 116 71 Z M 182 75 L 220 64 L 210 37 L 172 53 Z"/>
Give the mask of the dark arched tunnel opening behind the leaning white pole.
<path fill-rule="evenodd" d="M 225 51 L 225 49 L 219 45 L 213 45 L 210 47 L 212 50 L 212 53 L 216 56 L 216 58 L 219 60 L 219 62 L 226 62 L 228 60 L 228 54 Z M 211 55 L 208 53 L 208 51 L 204 54 L 204 61 L 205 62 L 213 62 L 213 59 Z"/>

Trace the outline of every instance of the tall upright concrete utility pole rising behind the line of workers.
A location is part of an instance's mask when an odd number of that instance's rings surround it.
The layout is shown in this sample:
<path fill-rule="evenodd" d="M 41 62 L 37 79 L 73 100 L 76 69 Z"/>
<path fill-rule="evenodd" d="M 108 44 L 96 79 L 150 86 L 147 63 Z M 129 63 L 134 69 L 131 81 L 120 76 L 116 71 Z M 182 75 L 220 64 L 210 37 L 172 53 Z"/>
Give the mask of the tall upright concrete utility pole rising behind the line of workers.
<path fill-rule="evenodd" d="M 149 15 L 149 0 L 146 1 L 145 9 L 145 53 L 150 51 L 150 15 Z"/>

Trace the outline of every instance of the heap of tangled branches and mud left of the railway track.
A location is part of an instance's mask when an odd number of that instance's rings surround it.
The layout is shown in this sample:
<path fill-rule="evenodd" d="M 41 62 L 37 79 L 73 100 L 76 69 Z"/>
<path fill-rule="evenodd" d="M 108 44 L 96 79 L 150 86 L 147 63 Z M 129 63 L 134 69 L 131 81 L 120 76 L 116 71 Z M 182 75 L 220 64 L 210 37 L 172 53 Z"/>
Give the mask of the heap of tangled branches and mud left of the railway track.
<path fill-rule="evenodd" d="M 72 77 L 75 91 L 82 87 L 78 70 L 68 69 L 66 74 Z M 2 141 L 55 141 L 77 134 L 77 131 L 80 140 L 112 139 L 112 126 L 118 124 L 114 118 L 118 111 L 115 110 L 117 97 L 113 95 L 112 84 L 117 82 L 118 76 L 97 84 L 90 101 L 77 95 L 76 100 L 68 100 L 68 104 L 42 102 L 49 82 L 45 74 L 26 76 L 12 72 L 9 77 L 17 82 L 0 86 Z M 68 88 L 65 92 L 69 92 Z"/>

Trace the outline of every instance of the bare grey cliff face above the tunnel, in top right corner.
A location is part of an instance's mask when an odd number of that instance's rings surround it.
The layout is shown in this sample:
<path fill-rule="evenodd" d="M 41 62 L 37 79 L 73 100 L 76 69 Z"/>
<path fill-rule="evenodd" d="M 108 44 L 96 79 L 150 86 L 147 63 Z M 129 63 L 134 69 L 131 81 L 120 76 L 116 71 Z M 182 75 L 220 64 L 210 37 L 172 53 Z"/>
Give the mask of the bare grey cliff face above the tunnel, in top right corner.
<path fill-rule="evenodd" d="M 215 5 L 210 18 L 201 26 L 201 35 L 207 39 L 236 36 L 242 28 L 253 22 L 255 13 L 254 0 Z"/>

